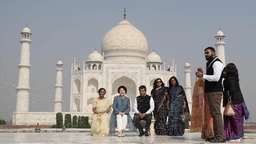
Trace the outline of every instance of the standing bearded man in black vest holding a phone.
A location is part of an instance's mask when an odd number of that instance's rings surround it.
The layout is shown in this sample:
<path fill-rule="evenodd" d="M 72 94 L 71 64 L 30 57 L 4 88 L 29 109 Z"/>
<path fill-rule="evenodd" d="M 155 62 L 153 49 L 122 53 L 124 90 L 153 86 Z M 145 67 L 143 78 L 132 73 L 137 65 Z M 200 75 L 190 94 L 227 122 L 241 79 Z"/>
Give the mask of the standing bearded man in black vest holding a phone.
<path fill-rule="evenodd" d="M 202 78 L 205 82 L 204 92 L 207 93 L 209 100 L 210 113 L 213 119 L 214 137 L 209 139 L 210 142 L 226 142 L 224 137 L 224 127 L 222 115 L 220 112 L 220 103 L 223 93 L 221 73 L 224 68 L 223 63 L 215 56 L 213 47 L 207 47 L 204 50 L 206 63 L 206 73 L 203 74 L 202 68 L 197 68 L 196 76 Z"/>

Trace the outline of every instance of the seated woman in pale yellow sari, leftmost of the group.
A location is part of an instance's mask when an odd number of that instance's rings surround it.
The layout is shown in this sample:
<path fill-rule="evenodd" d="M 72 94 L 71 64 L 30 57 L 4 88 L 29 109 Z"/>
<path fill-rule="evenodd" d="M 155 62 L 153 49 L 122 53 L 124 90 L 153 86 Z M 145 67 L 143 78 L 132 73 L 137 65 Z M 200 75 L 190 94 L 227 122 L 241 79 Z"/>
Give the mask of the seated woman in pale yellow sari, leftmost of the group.
<path fill-rule="evenodd" d="M 110 111 L 112 103 L 104 98 L 106 90 L 99 89 L 99 97 L 93 100 L 93 114 L 89 117 L 89 124 L 91 125 L 92 136 L 106 137 L 109 133 Z"/>

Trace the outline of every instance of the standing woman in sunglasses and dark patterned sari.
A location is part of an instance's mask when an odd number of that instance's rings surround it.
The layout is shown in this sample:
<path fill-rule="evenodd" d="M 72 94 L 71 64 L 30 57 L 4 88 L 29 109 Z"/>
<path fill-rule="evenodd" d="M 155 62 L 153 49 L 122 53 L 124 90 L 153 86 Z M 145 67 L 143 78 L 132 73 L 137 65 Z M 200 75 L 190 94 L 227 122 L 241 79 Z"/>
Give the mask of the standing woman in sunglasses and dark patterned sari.
<path fill-rule="evenodd" d="M 153 89 L 151 91 L 151 97 L 155 102 L 155 109 L 153 111 L 155 122 L 156 135 L 167 135 L 168 127 L 166 124 L 168 109 L 167 101 L 169 101 L 168 87 L 164 86 L 161 78 L 157 78 L 154 81 Z M 167 99 L 167 100 L 166 100 Z"/>

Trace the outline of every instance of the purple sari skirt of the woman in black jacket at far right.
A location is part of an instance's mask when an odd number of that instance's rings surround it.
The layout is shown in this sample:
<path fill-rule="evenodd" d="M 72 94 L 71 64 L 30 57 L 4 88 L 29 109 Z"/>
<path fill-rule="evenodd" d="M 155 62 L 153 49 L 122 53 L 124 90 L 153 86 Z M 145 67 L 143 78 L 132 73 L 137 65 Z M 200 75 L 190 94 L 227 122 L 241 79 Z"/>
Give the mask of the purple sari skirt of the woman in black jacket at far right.
<path fill-rule="evenodd" d="M 233 105 L 235 115 L 223 115 L 223 124 L 226 140 L 236 140 L 244 136 L 244 108 L 242 103 Z"/>

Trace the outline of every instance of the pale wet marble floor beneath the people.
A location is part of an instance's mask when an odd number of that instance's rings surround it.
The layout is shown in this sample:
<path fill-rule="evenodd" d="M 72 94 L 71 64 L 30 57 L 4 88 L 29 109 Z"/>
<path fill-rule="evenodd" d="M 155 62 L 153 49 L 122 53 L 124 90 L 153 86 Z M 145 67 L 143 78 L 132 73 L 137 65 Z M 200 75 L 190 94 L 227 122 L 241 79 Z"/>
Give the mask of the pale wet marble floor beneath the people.
<path fill-rule="evenodd" d="M 0 133 L 0 143 L 209 143 L 201 139 L 201 133 L 186 132 L 183 136 L 156 136 L 138 137 L 138 133 L 125 133 L 125 137 L 108 136 L 93 137 L 90 132 L 40 132 L 40 133 Z M 245 136 L 254 136 L 256 133 L 245 133 Z M 241 141 L 227 141 L 227 143 L 256 143 L 256 139 L 241 139 Z"/>

